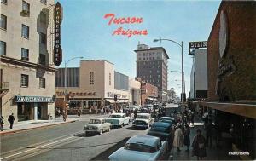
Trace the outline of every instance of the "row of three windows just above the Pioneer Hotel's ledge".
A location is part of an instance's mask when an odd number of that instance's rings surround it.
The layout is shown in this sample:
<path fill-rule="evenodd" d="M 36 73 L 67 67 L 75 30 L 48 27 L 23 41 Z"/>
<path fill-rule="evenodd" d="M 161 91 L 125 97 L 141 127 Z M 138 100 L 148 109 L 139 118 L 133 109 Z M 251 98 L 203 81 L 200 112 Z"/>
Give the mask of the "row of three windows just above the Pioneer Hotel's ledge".
<path fill-rule="evenodd" d="M 0 55 L 6 55 L 6 42 L 0 41 Z M 29 49 L 21 48 L 21 60 L 29 61 Z M 38 63 L 45 66 L 46 55 L 39 54 Z"/>

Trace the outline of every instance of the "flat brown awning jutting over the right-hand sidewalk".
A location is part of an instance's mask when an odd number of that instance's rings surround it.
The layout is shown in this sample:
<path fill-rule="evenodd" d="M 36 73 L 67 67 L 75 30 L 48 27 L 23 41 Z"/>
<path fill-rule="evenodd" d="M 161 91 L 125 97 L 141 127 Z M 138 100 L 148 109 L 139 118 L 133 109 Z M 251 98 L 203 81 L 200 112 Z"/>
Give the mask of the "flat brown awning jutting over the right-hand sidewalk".
<path fill-rule="evenodd" d="M 203 102 L 202 106 L 208 106 L 223 112 L 229 112 L 247 118 L 256 119 L 256 105 L 252 104 L 239 104 L 239 103 L 219 103 L 219 102 Z"/>

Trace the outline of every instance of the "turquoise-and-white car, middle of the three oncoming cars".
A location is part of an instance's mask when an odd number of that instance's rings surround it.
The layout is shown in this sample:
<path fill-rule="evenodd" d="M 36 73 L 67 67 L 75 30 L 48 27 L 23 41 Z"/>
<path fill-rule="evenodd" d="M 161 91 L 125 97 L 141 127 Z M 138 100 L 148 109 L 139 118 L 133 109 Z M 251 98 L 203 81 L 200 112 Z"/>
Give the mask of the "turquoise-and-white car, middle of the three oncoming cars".
<path fill-rule="evenodd" d="M 106 122 L 111 124 L 111 127 L 123 127 L 130 122 L 130 117 L 126 117 L 126 113 L 113 113 L 106 118 Z"/>

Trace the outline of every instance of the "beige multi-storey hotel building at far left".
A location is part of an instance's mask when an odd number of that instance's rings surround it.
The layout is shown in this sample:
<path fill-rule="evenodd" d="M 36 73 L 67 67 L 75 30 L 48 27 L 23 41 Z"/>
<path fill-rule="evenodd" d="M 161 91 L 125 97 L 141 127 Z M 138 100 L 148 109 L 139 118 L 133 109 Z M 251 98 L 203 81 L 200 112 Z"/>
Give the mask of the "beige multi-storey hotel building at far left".
<path fill-rule="evenodd" d="M 55 0 L 1 0 L 0 112 L 16 121 L 55 116 Z M 5 122 L 8 123 L 8 122 Z"/>

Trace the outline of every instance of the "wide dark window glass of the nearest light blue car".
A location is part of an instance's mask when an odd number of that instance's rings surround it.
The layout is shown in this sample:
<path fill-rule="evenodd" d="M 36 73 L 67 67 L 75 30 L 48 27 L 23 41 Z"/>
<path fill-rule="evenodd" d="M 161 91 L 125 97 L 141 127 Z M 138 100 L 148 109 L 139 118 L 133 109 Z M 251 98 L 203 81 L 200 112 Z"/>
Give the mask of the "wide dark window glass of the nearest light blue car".
<path fill-rule="evenodd" d="M 126 143 L 125 149 L 131 150 L 131 151 L 148 152 L 148 153 L 156 152 L 156 148 L 148 145 L 140 144 L 140 143 Z"/>

